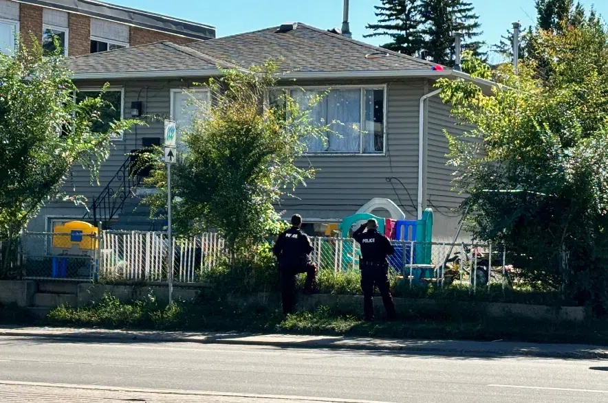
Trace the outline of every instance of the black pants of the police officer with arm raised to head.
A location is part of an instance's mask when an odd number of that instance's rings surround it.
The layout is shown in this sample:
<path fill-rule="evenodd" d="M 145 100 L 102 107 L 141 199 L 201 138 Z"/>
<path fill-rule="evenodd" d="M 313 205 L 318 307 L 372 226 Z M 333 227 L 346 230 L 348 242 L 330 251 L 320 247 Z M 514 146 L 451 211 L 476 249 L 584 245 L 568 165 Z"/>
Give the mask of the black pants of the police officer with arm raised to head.
<path fill-rule="evenodd" d="M 361 289 L 363 290 L 363 312 L 365 319 L 373 319 L 373 289 L 378 286 L 384 309 L 389 319 L 397 316 L 395 303 L 389 290 L 389 268 L 385 265 L 361 263 Z"/>

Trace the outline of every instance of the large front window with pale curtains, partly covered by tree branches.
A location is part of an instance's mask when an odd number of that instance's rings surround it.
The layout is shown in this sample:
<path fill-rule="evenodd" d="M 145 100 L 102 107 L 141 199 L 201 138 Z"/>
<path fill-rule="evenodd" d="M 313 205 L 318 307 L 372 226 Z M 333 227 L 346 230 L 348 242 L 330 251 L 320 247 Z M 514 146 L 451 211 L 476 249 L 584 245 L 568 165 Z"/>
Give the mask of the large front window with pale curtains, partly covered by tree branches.
<path fill-rule="evenodd" d="M 273 89 L 270 104 L 289 91 L 301 110 L 314 122 L 328 124 L 333 133 L 325 139 L 305 139 L 309 154 L 382 154 L 384 152 L 384 86 Z M 321 97 L 314 106 L 311 100 Z"/>

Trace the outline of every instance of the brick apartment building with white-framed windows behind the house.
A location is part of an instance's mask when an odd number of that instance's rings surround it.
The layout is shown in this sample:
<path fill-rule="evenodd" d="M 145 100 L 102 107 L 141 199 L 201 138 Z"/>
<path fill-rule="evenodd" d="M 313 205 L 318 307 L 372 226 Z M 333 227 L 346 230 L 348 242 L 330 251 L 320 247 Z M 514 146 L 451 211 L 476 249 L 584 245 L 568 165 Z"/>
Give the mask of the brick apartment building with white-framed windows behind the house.
<path fill-rule="evenodd" d="M 215 38 L 215 27 L 96 0 L 0 0 L 0 51 L 14 51 L 16 34 L 43 49 L 56 36 L 65 56 L 156 41 L 177 44 Z"/>

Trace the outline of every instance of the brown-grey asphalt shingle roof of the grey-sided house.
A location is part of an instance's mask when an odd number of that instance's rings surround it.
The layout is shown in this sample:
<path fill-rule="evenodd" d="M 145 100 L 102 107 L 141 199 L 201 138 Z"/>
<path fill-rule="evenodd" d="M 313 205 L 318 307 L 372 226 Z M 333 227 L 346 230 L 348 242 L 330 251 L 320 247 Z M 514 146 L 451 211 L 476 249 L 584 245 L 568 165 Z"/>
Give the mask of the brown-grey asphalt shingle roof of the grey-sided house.
<path fill-rule="evenodd" d="M 175 45 L 158 42 L 70 58 L 66 66 L 75 78 L 204 76 L 217 67 L 248 69 L 272 58 L 281 71 L 340 73 L 430 71 L 434 63 L 368 45 L 302 23 L 289 32 L 278 27 L 208 41 Z"/>

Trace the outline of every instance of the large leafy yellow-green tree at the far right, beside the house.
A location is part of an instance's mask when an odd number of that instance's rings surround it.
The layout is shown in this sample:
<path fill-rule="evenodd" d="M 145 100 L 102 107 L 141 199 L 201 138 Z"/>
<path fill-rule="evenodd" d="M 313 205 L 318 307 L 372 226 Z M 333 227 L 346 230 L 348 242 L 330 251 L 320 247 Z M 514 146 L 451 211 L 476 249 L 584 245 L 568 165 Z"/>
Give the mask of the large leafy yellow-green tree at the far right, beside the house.
<path fill-rule="evenodd" d="M 486 95 L 472 82 L 439 80 L 453 115 L 476 128 L 448 137 L 456 185 L 465 189 L 471 230 L 506 244 L 534 286 L 561 289 L 579 303 L 608 308 L 608 32 L 583 21 L 541 31 L 534 60 L 519 76 L 468 58 L 473 76 L 502 87 Z"/>

